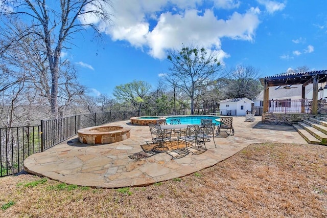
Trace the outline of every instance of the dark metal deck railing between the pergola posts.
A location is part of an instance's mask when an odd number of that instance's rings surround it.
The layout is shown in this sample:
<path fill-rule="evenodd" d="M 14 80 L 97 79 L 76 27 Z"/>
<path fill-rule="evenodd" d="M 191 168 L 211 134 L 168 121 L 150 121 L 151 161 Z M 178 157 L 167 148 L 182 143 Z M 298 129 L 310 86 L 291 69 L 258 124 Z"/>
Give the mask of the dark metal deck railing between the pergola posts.
<path fill-rule="evenodd" d="M 312 100 L 276 99 L 268 100 L 268 112 L 276 113 L 312 113 Z"/>

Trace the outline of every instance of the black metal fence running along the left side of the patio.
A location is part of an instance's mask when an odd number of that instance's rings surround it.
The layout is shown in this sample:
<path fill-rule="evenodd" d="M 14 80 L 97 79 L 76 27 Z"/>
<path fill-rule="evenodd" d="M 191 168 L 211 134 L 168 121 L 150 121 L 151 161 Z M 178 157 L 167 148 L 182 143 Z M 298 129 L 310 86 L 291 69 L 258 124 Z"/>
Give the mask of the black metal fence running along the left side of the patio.
<path fill-rule="evenodd" d="M 0 128 L 0 177 L 20 172 L 28 156 L 75 136 L 78 129 L 136 116 L 138 111 L 110 111 L 42 120 L 39 126 Z"/>

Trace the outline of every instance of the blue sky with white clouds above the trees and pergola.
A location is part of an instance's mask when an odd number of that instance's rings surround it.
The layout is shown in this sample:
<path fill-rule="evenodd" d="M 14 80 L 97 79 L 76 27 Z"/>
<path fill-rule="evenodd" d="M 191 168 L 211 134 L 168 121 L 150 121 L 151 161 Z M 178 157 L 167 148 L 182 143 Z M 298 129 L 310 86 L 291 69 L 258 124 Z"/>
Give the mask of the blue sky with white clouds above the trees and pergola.
<path fill-rule="evenodd" d="M 268 0 L 113 0 L 104 33 L 77 34 L 63 56 L 76 63 L 92 92 L 112 96 L 114 86 L 143 80 L 156 86 L 167 73 L 167 50 L 198 45 L 219 53 L 225 69 L 238 64 L 271 76 L 307 66 L 327 69 L 327 2 Z"/>

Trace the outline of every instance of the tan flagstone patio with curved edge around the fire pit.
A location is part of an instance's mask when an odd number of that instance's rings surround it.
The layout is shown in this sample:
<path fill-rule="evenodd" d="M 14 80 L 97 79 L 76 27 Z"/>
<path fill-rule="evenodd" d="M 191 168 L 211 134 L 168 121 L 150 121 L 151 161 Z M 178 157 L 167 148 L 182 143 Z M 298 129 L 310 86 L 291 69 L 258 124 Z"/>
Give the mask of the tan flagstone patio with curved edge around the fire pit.
<path fill-rule="evenodd" d="M 78 136 L 43 152 L 33 154 L 24 162 L 26 171 L 68 184 L 118 188 L 146 186 L 183 177 L 213 166 L 253 143 L 278 142 L 307 144 L 292 126 L 245 122 L 245 117 L 233 117 L 235 135 L 215 138 L 202 154 L 188 154 L 173 159 L 167 152 L 151 154 L 149 126 L 130 125 L 130 121 L 113 125 L 130 128 L 130 138 L 103 145 L 80 143 Z M 174 145 L 172 145 L 173 147 Z M 139 155 L 138 155 L 139 154 Z M 138 155 L 138 156 L 137 156 Z"/>

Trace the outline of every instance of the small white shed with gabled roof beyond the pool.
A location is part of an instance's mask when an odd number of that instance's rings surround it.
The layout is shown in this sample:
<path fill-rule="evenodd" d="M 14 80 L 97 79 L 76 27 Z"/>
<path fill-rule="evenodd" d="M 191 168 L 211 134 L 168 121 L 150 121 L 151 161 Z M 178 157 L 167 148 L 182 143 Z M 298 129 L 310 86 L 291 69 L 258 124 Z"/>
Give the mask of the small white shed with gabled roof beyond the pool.
<path fill-rule="evenodd" d="M 220 115 L 245 116 L 247 112 L 252 111 L 254 101 L 248 98 L 230 98 L 218 103 Z"/>

